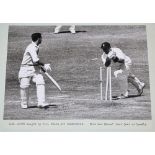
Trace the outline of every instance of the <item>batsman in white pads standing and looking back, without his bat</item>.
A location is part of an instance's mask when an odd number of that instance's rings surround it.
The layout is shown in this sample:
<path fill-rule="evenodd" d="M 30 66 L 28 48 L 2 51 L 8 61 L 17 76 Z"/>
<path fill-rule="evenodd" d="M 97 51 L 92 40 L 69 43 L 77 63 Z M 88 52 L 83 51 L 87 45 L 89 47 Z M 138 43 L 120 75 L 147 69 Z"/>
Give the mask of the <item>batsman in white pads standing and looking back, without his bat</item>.
<path fill-rule="evenodd" d="M 40 67 L 44 70 L 51 70 L 50 64 L 43 64 L 39 58 L 39 44 L 42 42 L 41 33 L 33 33 L 31 35 L 32 43 L 30 43 L 24 53 L 23 60 L 19 71 L 21 108 L 28 108 L 29 86 L 32 80 L 36 83 L 38 107 L 45 108 L 45 81 L 41 73 Z"/>

